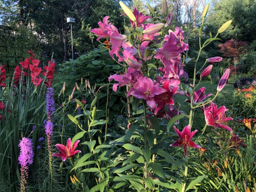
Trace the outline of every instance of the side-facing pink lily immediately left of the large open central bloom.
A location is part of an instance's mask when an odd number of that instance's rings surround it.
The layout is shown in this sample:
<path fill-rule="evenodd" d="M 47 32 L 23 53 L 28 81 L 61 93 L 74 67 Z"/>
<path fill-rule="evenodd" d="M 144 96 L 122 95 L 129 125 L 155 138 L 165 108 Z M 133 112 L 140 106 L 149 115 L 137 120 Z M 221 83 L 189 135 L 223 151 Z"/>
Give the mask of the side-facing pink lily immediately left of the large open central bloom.
<path fill-rule="evenodd" d="M 115 81 L 118 81 L 118 83 L 113 84 L 113 91 L 117 92 L 117 86 L 128 86 L 132 87 L 134 83 L 138 79 L 142 79 L 143 75 L 141 74 L 141 71 L 139 69 L 133 69 L 131 67 L 127 68 L 127 73 L 124 74 L 114 74 L 109 76 L 109 81 L 114 79 Z"/>

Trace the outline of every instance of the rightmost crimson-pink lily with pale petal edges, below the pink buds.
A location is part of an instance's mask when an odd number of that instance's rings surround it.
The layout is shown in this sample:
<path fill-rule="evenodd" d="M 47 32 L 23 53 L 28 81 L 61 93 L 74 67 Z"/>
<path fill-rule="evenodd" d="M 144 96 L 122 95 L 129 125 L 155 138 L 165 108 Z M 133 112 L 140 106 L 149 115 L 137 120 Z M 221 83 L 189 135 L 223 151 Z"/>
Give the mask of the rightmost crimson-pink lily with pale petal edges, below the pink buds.
<path fill-rule="evenodd" d="M 231 133 L 233 132 L 230 127 L 227 125 L 223 125 L 225 121 L 230 121 L 233 120 L 231 117 L 224 117 L 225 112 L 228 109 L 226 109 L 225 106 L 221 106 L 219 109 L 216 104 L 214 104 L 212 101 L 210 101 L 210 106 L 206 107 L 204 105 L 204 117 L 206 124 L 208 126 L 214 126 L 214 128 L 222 128 L 222 129 L 227 129 Z"/>

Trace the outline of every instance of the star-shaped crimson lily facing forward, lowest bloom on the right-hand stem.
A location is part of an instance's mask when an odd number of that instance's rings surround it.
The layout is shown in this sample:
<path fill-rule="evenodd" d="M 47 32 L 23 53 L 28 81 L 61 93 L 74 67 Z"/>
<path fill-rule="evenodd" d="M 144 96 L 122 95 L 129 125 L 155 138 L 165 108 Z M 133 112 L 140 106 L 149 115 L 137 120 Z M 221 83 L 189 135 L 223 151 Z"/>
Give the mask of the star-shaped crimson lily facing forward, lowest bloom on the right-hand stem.
<path fill-rule="evenodd" d="M 174 126 L 174 130 L 178 134 L 179 140 L 175 141 L 173 144 L 170 144 L 170 146 L 171 147 L 184 146 L 183 149 L 184 149 L 185 157 L 187 157 L 187 146 L 193 147 L 193 148 L 201 148 L 200 145 L 197 145 L 191 141 L 192 137 L 195 135 L 197 130 L 192 131 L 191 133 L 190 125 L 187 125 L 186 127 L 184 127 L 182 132 L 180 132 L 175 126 Z"/>

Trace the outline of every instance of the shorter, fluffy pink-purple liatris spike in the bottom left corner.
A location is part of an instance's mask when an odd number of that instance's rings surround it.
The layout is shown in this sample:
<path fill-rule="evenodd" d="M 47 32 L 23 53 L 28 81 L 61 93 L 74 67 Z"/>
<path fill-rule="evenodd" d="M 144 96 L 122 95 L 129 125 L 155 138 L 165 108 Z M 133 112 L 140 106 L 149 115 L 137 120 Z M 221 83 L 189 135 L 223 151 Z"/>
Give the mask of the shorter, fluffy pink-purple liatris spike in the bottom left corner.
<path fill-rule="evenodd" d="M 27 177 L 28 177 L 28 165 L 33 163 L 34 152 L 32 139 L 22 138 L 19 143 L 20 154 L 18 157 L 20 168 L 20 192 L 26 191 Z"/>

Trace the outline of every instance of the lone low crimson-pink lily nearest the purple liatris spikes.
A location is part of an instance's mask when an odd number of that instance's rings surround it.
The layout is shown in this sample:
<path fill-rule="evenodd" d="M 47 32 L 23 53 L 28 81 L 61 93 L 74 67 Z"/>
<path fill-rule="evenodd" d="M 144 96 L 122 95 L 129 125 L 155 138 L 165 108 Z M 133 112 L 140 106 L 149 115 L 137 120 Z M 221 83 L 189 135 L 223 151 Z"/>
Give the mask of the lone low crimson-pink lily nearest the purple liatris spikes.
<path fill-rule="evenodd" d="M 75 150 L 79 142 L 80 141 L 77 140 L 73 146 L 71 146 L 71 139 L 68 138 L 66 146 L 62 144 L 56 144 L 55 146 L 60 151 L 60 153 L 54 153 L 52 156 L 61 157 L 62 161 L 66 161 L 67 158 L 73 157 L 76 153 L 81 153 L 80 150 Z"/>

